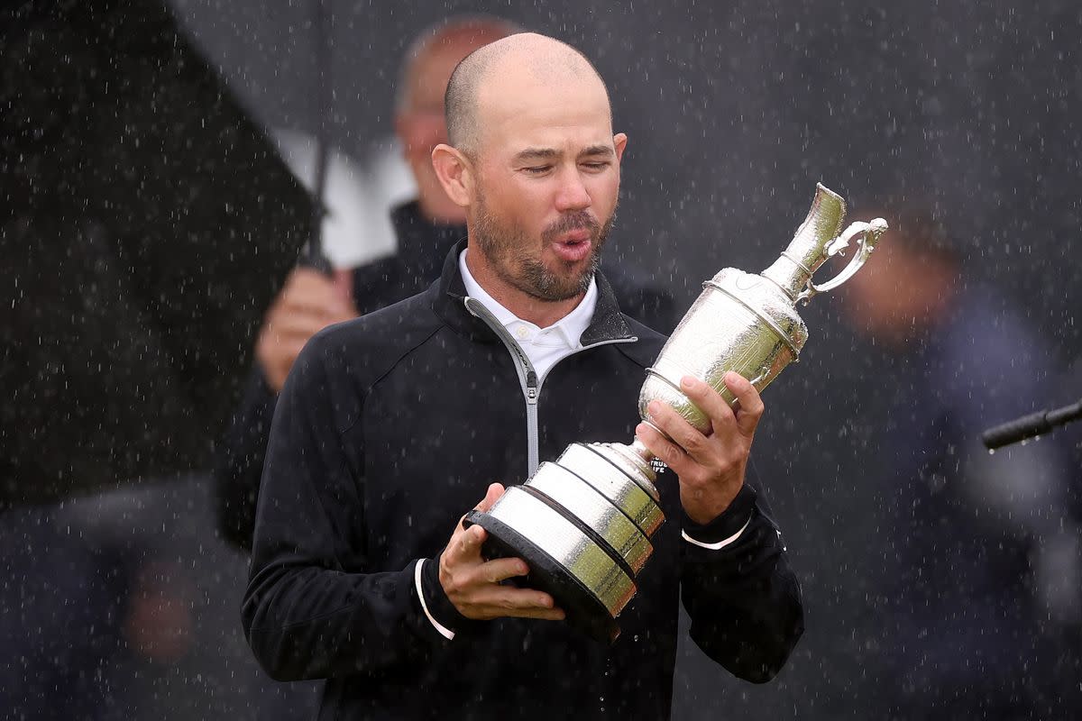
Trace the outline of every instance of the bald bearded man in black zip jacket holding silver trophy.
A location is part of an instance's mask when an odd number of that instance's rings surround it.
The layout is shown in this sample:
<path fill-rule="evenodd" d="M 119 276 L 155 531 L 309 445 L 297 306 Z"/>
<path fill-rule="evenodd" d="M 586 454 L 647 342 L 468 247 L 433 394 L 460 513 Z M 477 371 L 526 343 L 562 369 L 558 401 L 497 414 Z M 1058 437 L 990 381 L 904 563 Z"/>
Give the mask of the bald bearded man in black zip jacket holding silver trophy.
<path fill-rule="evenodd" d="M 572 48 L 515 35 L 467 56 L 432 153 L 467 239 L 439 282 L 313 338 L 282 391 L 243 603 L 278 679 L 327 678 L 320 718 L 668 718 L 677 604 L 691 637 L 762 682 L 803 629 L 800 591 L 762 495 L 745 482 L 763 404 L 726 379 L 685 392 L 703 436 L 651 409 L 646 366 L 664 337 L 620 311 L 601 250 L 628 138 Z M 569 443 L 637 433 L 669 523 L 612 644 L 565 623 L 549 595 L 504 583 L 471 508 Z"/>

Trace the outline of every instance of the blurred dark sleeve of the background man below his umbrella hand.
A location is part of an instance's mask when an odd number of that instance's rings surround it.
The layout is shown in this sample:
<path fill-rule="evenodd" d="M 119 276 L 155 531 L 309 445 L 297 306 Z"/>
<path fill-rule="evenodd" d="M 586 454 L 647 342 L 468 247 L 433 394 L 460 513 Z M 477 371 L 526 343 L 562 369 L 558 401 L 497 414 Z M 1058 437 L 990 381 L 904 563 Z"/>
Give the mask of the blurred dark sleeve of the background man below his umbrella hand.
<path fill-rule="evenodd" d="M 252 369 L 214 468 L 219 529 L 226 540 L 243 550 L 252 548 L 255 502 L 277 400 L 263 372 Z"/>

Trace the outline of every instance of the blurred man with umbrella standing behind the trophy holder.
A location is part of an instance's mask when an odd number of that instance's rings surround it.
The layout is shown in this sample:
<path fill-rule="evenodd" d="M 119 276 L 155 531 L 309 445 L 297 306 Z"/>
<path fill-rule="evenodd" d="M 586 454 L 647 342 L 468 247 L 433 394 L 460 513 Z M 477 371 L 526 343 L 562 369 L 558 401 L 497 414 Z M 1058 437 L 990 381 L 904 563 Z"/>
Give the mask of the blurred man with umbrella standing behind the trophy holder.
<path fill-rule="evenodd" d="M 432 150 L 447 139 L 444 92 L 454 66 L 472 51 L 517 28 L 503 19 L 472 16 L 427 30 L 407 52 L 395 106 L 395 134 L 418 187 L 414 201 L 396 208 L 397 253 L 329 279 L 298 268 L 267 313 L 255 346 L 256 368 L 234 416 L 216 469 L 220 525 L 241 548 L 251 547 L 255 499 L 274 406 L 304 344 L 322 328 L 405 299 L 439 276 L 451 245 L 465 237 L 465 215 L 444 192 Z M 657 330 L 669 330 L 672 297 L 620 270 L 612 285 L 625 311 Z"/>

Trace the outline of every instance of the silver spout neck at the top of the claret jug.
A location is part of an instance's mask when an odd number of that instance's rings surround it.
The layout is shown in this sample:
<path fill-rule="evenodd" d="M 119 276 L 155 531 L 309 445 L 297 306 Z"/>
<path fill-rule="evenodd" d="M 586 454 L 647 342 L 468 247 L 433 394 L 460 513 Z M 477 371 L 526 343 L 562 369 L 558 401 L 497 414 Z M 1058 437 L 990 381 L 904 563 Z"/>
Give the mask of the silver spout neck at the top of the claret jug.
<path fill-rule="evenodd" d="M 792 302 L 827 259 L 827 246 L 842 230 L 845 201 L 821 184 L 804 223 L 796 229 L 789 248 L 761 276 L 784 291 Z"/>

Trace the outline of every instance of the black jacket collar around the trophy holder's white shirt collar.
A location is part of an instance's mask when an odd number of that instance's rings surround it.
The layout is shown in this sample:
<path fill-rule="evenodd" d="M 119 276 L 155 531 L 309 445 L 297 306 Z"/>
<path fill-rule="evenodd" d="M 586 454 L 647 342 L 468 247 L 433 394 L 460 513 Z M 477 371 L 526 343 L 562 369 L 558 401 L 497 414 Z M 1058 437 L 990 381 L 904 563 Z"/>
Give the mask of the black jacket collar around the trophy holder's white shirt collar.
<path fill-rule="evenodd" d="M 467 240 L 454 244 L 444 259 L 444 271 L 434 284 L 433 310 L 451 328 L 478 341 L 497 342 L 499 336 L 479 318 L 466 310 L 466 286 L 459 271 L 459 255 L 466 248 Z M 609 341 L 631 341 L 635 335 L 620 312 L 612 286 L 601 271 L 594 275 L 597 282 L 597 307 L 594 316 L 580 338 L 583 346 Z"/>

